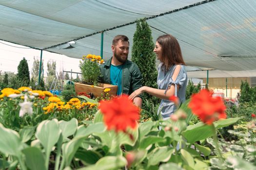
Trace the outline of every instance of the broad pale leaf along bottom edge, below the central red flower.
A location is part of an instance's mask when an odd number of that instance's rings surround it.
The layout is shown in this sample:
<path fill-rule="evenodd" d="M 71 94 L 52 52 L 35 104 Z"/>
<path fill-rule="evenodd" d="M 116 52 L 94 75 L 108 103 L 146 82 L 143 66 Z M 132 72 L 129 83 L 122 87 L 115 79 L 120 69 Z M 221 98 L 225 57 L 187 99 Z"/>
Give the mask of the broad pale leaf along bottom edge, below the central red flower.
<path fill-rule="evenodd" d="M 127 164 L 123 156 L 105 156 L 98 160 L 95 165 L 91 165 L 78 170 L 118 170 Z"/>

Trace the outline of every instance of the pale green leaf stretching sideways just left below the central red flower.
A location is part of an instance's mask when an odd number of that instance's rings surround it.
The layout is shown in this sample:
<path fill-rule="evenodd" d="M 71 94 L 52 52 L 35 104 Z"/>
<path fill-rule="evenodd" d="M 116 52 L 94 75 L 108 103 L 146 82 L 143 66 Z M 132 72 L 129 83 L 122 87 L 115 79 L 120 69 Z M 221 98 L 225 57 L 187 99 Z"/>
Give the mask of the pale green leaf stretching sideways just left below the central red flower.
<path fill-rule="evenodd" d="M 106 130 L 105 125 L 102 122 L 98 122 L 95 124 L 90 124 L 88 127 L 81 125 L 78 127 L 77 133 L 75 137 L 79 136 L 89 136 L 93 133 L 102 133 Z"/>

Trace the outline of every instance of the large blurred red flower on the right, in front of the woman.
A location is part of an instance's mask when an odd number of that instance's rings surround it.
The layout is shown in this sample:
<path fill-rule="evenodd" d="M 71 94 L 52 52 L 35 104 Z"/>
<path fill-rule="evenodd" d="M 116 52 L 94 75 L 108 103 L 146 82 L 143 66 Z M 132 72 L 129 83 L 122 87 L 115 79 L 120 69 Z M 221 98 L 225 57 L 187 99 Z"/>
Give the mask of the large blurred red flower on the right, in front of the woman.
<path fill-rule="evenodd" d="M 193 114 L 197 115 L 206 124 L 212 124 L 218 119 L 226 119 L 226 106 L 220 97 L 212 97 L 212 93 L 202 89 L 199 93 L 193 94 L 188 105 Z"/>

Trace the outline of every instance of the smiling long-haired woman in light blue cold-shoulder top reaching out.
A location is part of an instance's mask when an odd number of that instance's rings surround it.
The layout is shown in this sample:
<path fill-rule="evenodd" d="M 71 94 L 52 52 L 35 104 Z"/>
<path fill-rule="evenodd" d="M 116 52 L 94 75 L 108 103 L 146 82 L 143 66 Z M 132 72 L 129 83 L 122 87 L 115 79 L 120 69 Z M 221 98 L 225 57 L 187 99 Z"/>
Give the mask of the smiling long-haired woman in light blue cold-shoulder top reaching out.
<path fill-rule="evenodd" d="M 139 94 L 146 92 L 162 99 L 158 114 L 161 113 L 163 119 L 168 119 L 177 107 L 174 102 L 169 101 L 169 98 L 174 95 L 180 102 L 185 101 L 187 72 L 178 41 L 174 36 L 170 34 L 159 36 L 154 52 L 161 62 L 158 66 L 158 89 L 142 86 L 129 98 L 133 100 Z"/>

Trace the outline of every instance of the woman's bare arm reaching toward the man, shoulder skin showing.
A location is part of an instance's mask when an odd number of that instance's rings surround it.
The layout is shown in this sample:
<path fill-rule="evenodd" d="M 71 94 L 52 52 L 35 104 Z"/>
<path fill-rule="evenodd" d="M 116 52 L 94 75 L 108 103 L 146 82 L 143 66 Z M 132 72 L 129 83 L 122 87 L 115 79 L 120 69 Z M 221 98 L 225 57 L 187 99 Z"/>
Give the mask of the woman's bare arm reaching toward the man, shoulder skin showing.
<path fill-rule="evenodd" d="M 180 71 L 181 66 L 177 65 L 175 70 L 174 70 L 174 74 L 172 76 L 173 81 L 176 81 L 178 73 Z M 177 86 L 177 90 L 178 90 Z M 141 93 L 146 92 L 152 96 L 155 96 L 157 98 L 160 99 L 169 99 L 169 97 L 173 96 L 175 94 L 175 85 L 171 85 L 171 87 L 167 90 L 166 94 L 164 94 L 165 90 L 161 90 L 161 89 L 157 89 L 157 88 L 152 88 L 152 87 L 148 87 L 148 86 L 143 86 L 140 87 L 139 89 L 135 90 L 130 96 L 130 99 L 134 99 L 135 97 L 137 97 L 138 95 L 140 95 Z"/>

